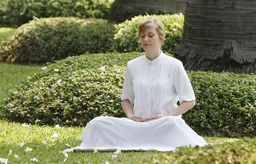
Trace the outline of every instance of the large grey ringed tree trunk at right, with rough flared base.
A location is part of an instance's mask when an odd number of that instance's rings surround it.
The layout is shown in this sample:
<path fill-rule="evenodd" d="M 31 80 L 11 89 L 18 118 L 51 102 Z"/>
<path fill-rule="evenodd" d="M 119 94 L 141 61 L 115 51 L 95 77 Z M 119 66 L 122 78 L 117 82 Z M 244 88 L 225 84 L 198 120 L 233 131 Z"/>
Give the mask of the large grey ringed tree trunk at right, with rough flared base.
<path fill-rule="evenodd" d="M 172 52 L 185 69 L 256 73 L 254 0 L 186 1 L 182 43 Z"/>

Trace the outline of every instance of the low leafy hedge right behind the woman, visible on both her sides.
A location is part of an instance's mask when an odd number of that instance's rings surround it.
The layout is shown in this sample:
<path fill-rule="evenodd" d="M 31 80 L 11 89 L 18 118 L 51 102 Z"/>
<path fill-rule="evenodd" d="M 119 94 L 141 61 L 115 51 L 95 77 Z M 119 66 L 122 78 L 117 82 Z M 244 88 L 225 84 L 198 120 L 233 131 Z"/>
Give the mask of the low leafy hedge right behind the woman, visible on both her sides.
<path fill-rule="evenodd" d="M 96 116 L 124 117 L 121 89 L 132 53 L 85 54 L 47 65 L 11 91 L 0 106 L 10 121 L 86 125 Z M 183 114 L 200 135 L 256 135 L 256 76 L 187 71 L 196 106 Z"/>

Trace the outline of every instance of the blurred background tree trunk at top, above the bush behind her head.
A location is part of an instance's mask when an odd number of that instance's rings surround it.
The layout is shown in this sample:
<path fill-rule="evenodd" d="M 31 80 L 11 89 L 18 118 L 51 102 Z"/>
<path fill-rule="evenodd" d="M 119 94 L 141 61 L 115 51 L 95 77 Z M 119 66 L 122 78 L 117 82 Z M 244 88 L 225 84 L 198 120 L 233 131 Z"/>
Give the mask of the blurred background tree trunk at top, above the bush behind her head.
<path fill-rule="evenodd" d="M 184 13 L 185 0 L 115 0 L 109 22 L 121 23 L 138 15 Z"/>

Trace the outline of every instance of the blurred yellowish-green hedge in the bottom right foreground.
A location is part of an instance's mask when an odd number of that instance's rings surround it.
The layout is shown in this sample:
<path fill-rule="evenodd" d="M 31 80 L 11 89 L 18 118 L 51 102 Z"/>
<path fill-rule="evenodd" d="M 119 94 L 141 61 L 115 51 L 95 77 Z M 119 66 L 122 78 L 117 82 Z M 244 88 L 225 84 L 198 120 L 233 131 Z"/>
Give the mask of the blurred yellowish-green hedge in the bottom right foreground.
<path fill-rule="evenodd" d="M 143 164 L 255 164 L 256 137 L 205 147 L 180 147 L 178 151 L 154 155 Z"/>

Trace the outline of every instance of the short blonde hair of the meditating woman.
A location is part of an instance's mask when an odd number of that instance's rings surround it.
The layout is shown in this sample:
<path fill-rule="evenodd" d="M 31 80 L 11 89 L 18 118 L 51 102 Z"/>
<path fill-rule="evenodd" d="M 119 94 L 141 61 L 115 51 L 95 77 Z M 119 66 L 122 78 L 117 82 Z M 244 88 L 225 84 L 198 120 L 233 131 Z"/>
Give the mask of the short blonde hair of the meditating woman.
<path fill-rule="evenodd" d="M 163 23 L 161 20 L 150 16 L 146 19 L 142 20 L 142 22 L 139 24 L 139 32 L 137 32 L 137 36 L 140 36 L 140 33 L 143 33 L 146 31 L 146 28 L 149 26 L 154 26 L 155 30 L 157 30 L 159 38 L 163 35 L 165 37 L 165 26 L 163 26 Z M 140 38 L 138 40 L 138 44 L 140 45 Z M 163 42 L 161 42 L 160 47 L 163 46 Z"/>

